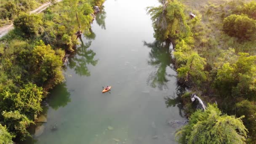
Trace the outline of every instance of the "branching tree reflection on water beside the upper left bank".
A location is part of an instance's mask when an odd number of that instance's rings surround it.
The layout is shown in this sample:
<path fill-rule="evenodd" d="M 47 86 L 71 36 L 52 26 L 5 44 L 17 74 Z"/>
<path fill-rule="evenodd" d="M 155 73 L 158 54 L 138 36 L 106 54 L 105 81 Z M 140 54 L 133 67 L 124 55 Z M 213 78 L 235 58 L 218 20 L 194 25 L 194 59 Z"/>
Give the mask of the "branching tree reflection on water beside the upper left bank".
<path fill-rule="evenodd" d="M 91 64 L 96 66 L 98 59 L 94 60 L 96 53 L 88 49 L 91 46 L 91 41 L 88 43 L 83 43 L 82 38 L 80 38 L 81 45 L 76 49 L 76 53 L 69 58 L 69 68 L 74 69 L 75 73 L 80 76 L 90 76 L 91 73 L 88 70 L 87 65 Z"/>

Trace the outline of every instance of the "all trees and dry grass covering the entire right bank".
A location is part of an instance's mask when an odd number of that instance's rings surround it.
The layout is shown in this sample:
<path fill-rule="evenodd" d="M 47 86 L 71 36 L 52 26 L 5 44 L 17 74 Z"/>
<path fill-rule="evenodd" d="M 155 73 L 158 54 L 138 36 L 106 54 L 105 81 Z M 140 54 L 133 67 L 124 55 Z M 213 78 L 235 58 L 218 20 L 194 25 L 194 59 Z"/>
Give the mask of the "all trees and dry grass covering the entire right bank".
<path fill-rule="evenodd" d="M 186 14 L 190 11 L 195 13 L 195 18 Z M 148 8 L 155 38 L 174 45 L 173 64 L 179 83 L 205 102 L 217 102 L 223 113 L 240 117 L 221 115 L 216 106 L 195 112 L 190 98 L 182 96 L 187 116 L 192 115 L 189 124 L 178 132 L 179 142 L 244 143 L 245 138 L 246 143 L 256 142 L 255 11 L 255 0 L 209 0 L 201 5 L 163 0 L 162 5 Z M 216 113 L 215 122 L 210 120 L 213 113 Z M 223 119 L 228 121 L 215 131 L 214 125 Z M 237 125 L 232 128 L 231 122 Z M 208 131 L 199 133 L 196 128 Z M 233 129 L 234 133 L 225 128 Z"/>

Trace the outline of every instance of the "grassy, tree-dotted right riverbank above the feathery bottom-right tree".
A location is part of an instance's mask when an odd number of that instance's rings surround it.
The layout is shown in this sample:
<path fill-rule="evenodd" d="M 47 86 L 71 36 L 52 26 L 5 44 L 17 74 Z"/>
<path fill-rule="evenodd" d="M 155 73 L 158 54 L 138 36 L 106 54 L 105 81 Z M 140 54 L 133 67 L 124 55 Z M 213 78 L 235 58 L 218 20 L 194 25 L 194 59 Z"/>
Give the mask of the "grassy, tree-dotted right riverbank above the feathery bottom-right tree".
<path fill-rule="evenodd" d="M 161 8 L 152 8 L 149 12 L 153 13 L 155 37 L 175 43 L 173 56 L 179 82 L 197 93 L 205 103 L 217 103 L 222 112 L 236 117 L 245 115 L 243 124 L 249 131 L 247 142 L 254 143 L 255 1 L 172 3 L 179 5 L 179 21 L 173 22 L 175 17 L 158 16 L 155 11 Z M 166 4 L 163 5 L 165 8 Z M 190 11 L 195 18 L 189 18 Z M 166 24 L 161 23 L 161 19 L 165 19 Z M 189 93 L 181 96 L 181 100 L 188 116 L 195 112 Z"/>

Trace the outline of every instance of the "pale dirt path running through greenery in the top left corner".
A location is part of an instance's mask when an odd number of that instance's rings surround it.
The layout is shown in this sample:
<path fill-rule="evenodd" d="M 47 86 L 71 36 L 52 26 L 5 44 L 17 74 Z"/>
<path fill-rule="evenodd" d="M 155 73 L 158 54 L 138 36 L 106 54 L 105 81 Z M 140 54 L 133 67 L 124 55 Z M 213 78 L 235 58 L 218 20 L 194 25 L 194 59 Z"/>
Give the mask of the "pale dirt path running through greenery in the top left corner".
<path fill-rule="evenodd" d="M 57 0 L 57 2 L 60 2 L 61 0 Z M 43 5 L 41 5 L 40 7 L 38 7 L 37 9 L 30 11 L 29 13 L 41 13 L 42 11 L 44 11 L 46 8 L 48 8 L 51 5 L 51 2 L 48 3 L 44 3 Z M 13 29 L 13 24 L 9 24 L 3 27 L 0 27 L 0 37 L 3 37 L 4 35 L 6 35 L 11 29 Z"/>

